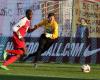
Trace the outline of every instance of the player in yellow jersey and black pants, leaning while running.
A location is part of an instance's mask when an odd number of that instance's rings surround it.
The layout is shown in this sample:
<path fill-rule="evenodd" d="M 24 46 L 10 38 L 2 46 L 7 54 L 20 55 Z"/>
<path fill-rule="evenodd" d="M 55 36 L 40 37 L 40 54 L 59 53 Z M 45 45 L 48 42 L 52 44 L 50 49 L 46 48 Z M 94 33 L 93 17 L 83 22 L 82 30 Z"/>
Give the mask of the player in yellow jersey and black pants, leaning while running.
<path fill-rule="evenodd" d="M 38 29 L 39 27 L 44 26 L 44 33 L 40 36 L 39 39 L 39 47 L 35 53 L 29 54 L 27 57 L 23 59 L 26 61 L 32 56 L 35 56 L 34 63 L 39 60 L 39 57 L 42 53 L 49 49 L 49 47 L 57 40 L 58 38 L 58 24 L 55 20 L 55 14 L 49 13 L 47 19 L 43 19 L 40 23 L 36 24 L 31 29 L 30 32 Z"/>

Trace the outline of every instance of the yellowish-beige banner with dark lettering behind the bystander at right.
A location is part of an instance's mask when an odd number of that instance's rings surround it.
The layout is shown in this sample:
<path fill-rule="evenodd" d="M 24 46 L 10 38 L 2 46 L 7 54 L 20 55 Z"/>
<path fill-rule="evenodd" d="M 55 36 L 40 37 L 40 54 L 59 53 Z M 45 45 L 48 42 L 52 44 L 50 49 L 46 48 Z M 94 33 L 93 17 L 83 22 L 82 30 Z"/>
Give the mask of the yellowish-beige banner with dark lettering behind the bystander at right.
<path fill-rule="evenodd" d="M 73 36 L 77 30 L 79 19 L 87 21 L 89 37 L 100 37 L 100 1 L 99 0 L 74 0 L 73 5 Z"/>

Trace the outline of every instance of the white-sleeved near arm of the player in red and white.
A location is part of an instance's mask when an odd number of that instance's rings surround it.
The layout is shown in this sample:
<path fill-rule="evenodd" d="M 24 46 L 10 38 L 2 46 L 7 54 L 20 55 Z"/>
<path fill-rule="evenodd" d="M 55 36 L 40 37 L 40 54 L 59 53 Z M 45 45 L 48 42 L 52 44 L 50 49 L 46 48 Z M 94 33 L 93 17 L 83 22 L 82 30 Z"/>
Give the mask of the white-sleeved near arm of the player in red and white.
<path fill-rule="evenodd" d="M 18 38 L 21 39 L 22 35 L 19 32 L 19 29 L 24 26 L 26 23 L 25 18 L 22 18 L 17 24 L 14 25 L 13 27 L 13 32 L 15 32 L 18 35 Z"/>

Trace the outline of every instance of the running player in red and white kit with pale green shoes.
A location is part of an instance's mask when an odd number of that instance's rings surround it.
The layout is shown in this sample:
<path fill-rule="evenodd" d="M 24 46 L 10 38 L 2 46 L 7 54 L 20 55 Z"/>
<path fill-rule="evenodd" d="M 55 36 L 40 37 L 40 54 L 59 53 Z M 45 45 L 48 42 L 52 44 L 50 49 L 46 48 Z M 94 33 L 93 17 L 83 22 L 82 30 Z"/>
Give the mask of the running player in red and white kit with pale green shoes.
<path fill-rule="evenodd" d="M 0 66 L 4 70 L 9 70 L 7 66 L 18 60 L 26 52 L 24 36 L 31 30 L 30 21 L 32 20 L 32 10 L 26 10 L 26 16 L 21 18 L 17 24 L 13 27 L 13 45 L 14 50 L 5 50 L 4 51 L 4 63 Z M 14 54 L 8 60 L 6 60 L 8 54 Z"/>

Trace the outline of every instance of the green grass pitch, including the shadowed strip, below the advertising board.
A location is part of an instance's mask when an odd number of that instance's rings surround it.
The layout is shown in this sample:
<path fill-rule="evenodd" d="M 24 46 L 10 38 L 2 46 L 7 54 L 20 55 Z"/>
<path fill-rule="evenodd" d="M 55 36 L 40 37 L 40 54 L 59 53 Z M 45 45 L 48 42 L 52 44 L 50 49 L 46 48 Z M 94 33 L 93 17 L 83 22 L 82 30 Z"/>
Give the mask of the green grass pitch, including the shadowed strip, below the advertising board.
<path fill-rule="evenodd" d="M 0 69 L 0 80 L 100 80 L 100 65 L 91 65 L 91 72 L 81 71 L 80 64 L 14 63 L 10 70 Z"/>

